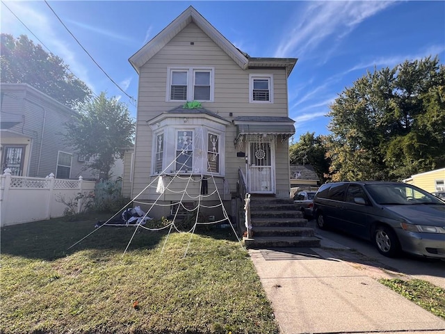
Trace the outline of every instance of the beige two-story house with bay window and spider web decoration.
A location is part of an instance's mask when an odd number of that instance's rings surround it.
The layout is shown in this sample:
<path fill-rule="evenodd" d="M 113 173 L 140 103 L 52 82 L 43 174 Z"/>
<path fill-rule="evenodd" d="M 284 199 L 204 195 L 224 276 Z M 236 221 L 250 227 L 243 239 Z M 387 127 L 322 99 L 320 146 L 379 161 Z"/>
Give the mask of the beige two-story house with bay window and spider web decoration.
<path fill-rule="evenodd" d="M 139 75 L 136 145 L 124 173 L 132 198 L 229 207 L 240 182 L 252 195 L 289 198 L 287 80 L 296 58 L 253 58 L 191 6 L 129 62 Z"/>

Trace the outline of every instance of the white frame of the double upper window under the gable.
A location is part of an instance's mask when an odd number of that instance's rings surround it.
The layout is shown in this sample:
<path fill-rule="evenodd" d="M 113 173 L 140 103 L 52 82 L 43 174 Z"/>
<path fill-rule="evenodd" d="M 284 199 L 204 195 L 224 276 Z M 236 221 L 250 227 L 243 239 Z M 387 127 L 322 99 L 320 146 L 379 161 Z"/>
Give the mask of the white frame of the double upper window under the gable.
<path fill-rule="evenodd" d="M 172 100 L 171 87 L 173 72 L 187 72 L 187 99 Z M 165 90 L 165 102 L 187 102 L 193 101 L 195 95 L 195 73 L 209 72 L 210 96 L 209 100 L 195 100 L 200 102 L 213 102 L 215 87 L 215 67 L 167 67 L 167 88 Z"/>

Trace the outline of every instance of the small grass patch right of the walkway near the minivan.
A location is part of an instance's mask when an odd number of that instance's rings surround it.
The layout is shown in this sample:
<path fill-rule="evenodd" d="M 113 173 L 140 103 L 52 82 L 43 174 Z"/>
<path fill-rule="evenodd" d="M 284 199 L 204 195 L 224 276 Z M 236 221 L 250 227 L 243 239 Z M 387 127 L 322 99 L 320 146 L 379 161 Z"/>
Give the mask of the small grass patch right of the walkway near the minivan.
<path fill-rule="evenodd" d="M 445 319 L 445 289 L 425 280 L 380 279 L 378 281 L 433 315 Z"/>

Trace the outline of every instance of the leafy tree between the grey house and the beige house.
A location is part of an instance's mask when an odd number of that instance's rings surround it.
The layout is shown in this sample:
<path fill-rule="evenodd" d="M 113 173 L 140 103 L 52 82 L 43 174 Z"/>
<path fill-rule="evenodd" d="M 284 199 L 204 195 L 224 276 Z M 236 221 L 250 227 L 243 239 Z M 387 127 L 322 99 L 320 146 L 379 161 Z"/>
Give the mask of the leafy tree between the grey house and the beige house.
<path fill-rule="evenodd" d="M 78 108 L 79 116 L 65 127 L 65 141 L 77 154 L 93 157 L 88 168 L 108 180 L 115 160 L 133 145 L 135 122 L 126 104 L 102 92 Z"/>

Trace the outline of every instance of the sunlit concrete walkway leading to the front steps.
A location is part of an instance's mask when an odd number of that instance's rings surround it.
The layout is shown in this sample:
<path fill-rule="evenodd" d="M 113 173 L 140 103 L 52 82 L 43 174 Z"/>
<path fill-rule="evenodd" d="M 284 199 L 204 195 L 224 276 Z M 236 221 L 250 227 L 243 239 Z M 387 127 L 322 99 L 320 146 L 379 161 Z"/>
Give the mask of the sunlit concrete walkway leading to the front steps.
<path fill-rule="evenodd" d="M 341 248 L 249 250 L 282 334 L 445 333 L 444 320 L 375 280 L 390 271 L 338 260 Z"/>

